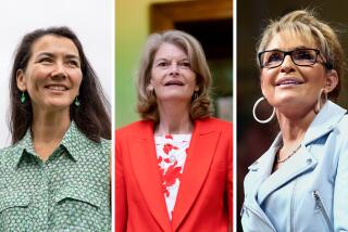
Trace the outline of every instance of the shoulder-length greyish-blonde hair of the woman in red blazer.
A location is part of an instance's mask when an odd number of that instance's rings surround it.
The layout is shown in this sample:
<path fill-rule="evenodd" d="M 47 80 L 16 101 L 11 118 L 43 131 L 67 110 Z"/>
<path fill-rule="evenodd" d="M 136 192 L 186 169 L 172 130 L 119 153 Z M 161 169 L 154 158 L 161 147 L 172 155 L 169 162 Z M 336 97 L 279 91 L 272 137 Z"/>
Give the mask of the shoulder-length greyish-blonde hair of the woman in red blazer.
<path fill-rule="evenodd" d="M 156 95 L 148 87 L 154 55 L 163 43 L 171 43 L 182 49 L 189 59 L 191 70 L 196 74 L 196 83 L 199 90 L 197 91 L 197 98 L 191 100 L 190 118 L 194 120 L 210 116 L 211 74 L 204 52 L 198 40 L 192 36 L 179 30 L 167 30 L 161 34 L 151 34 L 142 52 L 136 81 L 137 111 L 140 117 L 156 123 L 160 120 Z"/>

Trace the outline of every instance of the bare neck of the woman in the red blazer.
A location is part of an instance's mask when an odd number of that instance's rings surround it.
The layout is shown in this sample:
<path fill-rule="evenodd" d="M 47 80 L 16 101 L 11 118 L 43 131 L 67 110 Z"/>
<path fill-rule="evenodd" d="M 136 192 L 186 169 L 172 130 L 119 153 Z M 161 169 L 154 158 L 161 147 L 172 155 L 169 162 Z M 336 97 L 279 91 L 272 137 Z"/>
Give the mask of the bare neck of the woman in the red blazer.
<path fill-rule="evenodd" d="M 189 116 L 190 104 L 159 103 L 160 123 L 156 136 L 191 133 L 194 125 Z"/>

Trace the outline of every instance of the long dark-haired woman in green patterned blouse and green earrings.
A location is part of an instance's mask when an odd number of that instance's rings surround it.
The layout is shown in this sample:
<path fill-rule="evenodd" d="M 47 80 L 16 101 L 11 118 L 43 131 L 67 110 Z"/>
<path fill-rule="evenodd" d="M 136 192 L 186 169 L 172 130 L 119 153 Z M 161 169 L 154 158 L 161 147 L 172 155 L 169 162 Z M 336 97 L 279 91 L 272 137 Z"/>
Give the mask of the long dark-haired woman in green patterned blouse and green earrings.
<path fill-rule="evenodd" d="M 110 107 L 76 35 L 27 34 L 10 93 L 0 231 L 110 231 Z"/>

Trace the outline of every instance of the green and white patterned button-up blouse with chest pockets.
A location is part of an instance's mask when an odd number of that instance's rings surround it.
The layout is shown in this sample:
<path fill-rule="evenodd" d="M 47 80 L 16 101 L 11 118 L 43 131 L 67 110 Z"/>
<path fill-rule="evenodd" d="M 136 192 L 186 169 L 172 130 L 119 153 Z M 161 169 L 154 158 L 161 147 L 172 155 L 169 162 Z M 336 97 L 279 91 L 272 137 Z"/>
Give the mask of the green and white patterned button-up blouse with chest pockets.
<path fill-rule="evenodd" d="M 72 123 L 47 162 L 33 147 L 28 130 L 0 150 L 0 231 L 110 231 L 110 141 Z"/>

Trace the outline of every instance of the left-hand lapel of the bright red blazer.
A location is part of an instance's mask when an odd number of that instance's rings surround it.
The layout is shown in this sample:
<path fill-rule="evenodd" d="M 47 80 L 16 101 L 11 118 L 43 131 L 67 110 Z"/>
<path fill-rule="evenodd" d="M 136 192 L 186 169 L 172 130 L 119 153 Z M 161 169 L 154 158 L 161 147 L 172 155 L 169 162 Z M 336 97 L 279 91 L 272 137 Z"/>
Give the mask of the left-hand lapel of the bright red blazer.
<path fill-rule="evenodd" d="M 129 154 L 132 154 L 133 171 L 151 214 L 163 231 L 171 231 L 171 223 L 157 164 L 153 123 L 144 123 L 145 127 L 141 128 L 144 130 L 135 133 L 133 141 L 129 141 L 128 144 Z"/>

